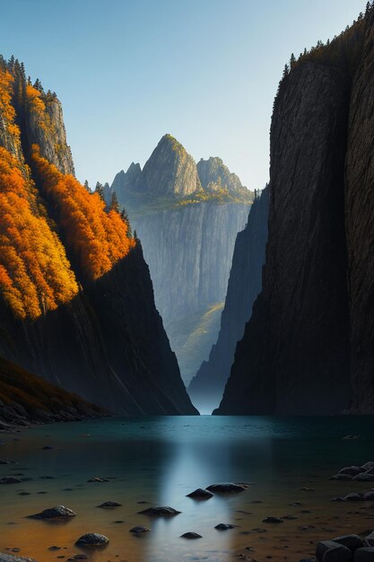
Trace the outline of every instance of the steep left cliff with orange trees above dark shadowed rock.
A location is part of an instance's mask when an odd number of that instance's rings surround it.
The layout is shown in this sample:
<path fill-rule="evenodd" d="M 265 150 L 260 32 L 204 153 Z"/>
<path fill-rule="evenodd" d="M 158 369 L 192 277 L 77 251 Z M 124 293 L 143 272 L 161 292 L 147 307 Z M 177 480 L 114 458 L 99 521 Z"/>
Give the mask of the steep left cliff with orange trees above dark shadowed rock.
<path fill-rule="evenodd" d="M 66 173 L 56 96 L 0 62 L 0 354 L 112 412 L 196 414 L 139 241 Z"/>

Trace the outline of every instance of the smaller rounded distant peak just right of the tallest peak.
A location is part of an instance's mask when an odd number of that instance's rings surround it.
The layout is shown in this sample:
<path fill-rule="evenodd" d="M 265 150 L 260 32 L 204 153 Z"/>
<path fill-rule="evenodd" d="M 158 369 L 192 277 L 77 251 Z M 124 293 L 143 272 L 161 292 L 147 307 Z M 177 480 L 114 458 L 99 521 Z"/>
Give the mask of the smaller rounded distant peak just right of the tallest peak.
<path fill-rule="evenodd" d="M 197 162 L 197 173 L 203 189 L 229 191 L 246 189 L 242 186 L 239 176 L 231 172 L 218 156 L 211 156 L 208 160 L 202 158 Z"/>

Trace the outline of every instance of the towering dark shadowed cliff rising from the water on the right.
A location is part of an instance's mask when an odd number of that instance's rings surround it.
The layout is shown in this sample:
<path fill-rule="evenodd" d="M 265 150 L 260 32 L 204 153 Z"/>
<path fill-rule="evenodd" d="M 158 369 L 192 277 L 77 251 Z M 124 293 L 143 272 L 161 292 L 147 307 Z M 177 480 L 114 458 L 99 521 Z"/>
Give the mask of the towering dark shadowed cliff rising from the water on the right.
<path fill-rule="evenodd" d="M 373 413 L 372 10 L 291 67 L 271 129 L 264 288 L 215 413 Z"/>

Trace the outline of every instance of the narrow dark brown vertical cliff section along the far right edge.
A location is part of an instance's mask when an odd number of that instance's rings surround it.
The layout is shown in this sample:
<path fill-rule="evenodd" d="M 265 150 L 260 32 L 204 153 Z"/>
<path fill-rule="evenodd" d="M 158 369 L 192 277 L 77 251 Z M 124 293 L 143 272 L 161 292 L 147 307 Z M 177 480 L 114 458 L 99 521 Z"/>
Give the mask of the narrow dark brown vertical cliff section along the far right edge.
<path fill-rule="evenodd" d="M 345 161 L 353 411 L 374 413 L 374 15 L 352 86 Z"/>

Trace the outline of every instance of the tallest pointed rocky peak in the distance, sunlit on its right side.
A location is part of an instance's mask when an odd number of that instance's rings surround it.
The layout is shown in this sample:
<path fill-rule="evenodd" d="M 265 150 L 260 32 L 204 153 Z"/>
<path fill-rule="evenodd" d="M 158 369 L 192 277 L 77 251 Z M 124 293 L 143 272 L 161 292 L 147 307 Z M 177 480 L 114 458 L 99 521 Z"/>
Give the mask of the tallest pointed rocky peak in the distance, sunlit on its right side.
<path fill-rule="evenodd" d="M 164 135 L 145 163 L 142 189 L 184 198 L 201 189 L 196 162 L 174 136 Z"/>

